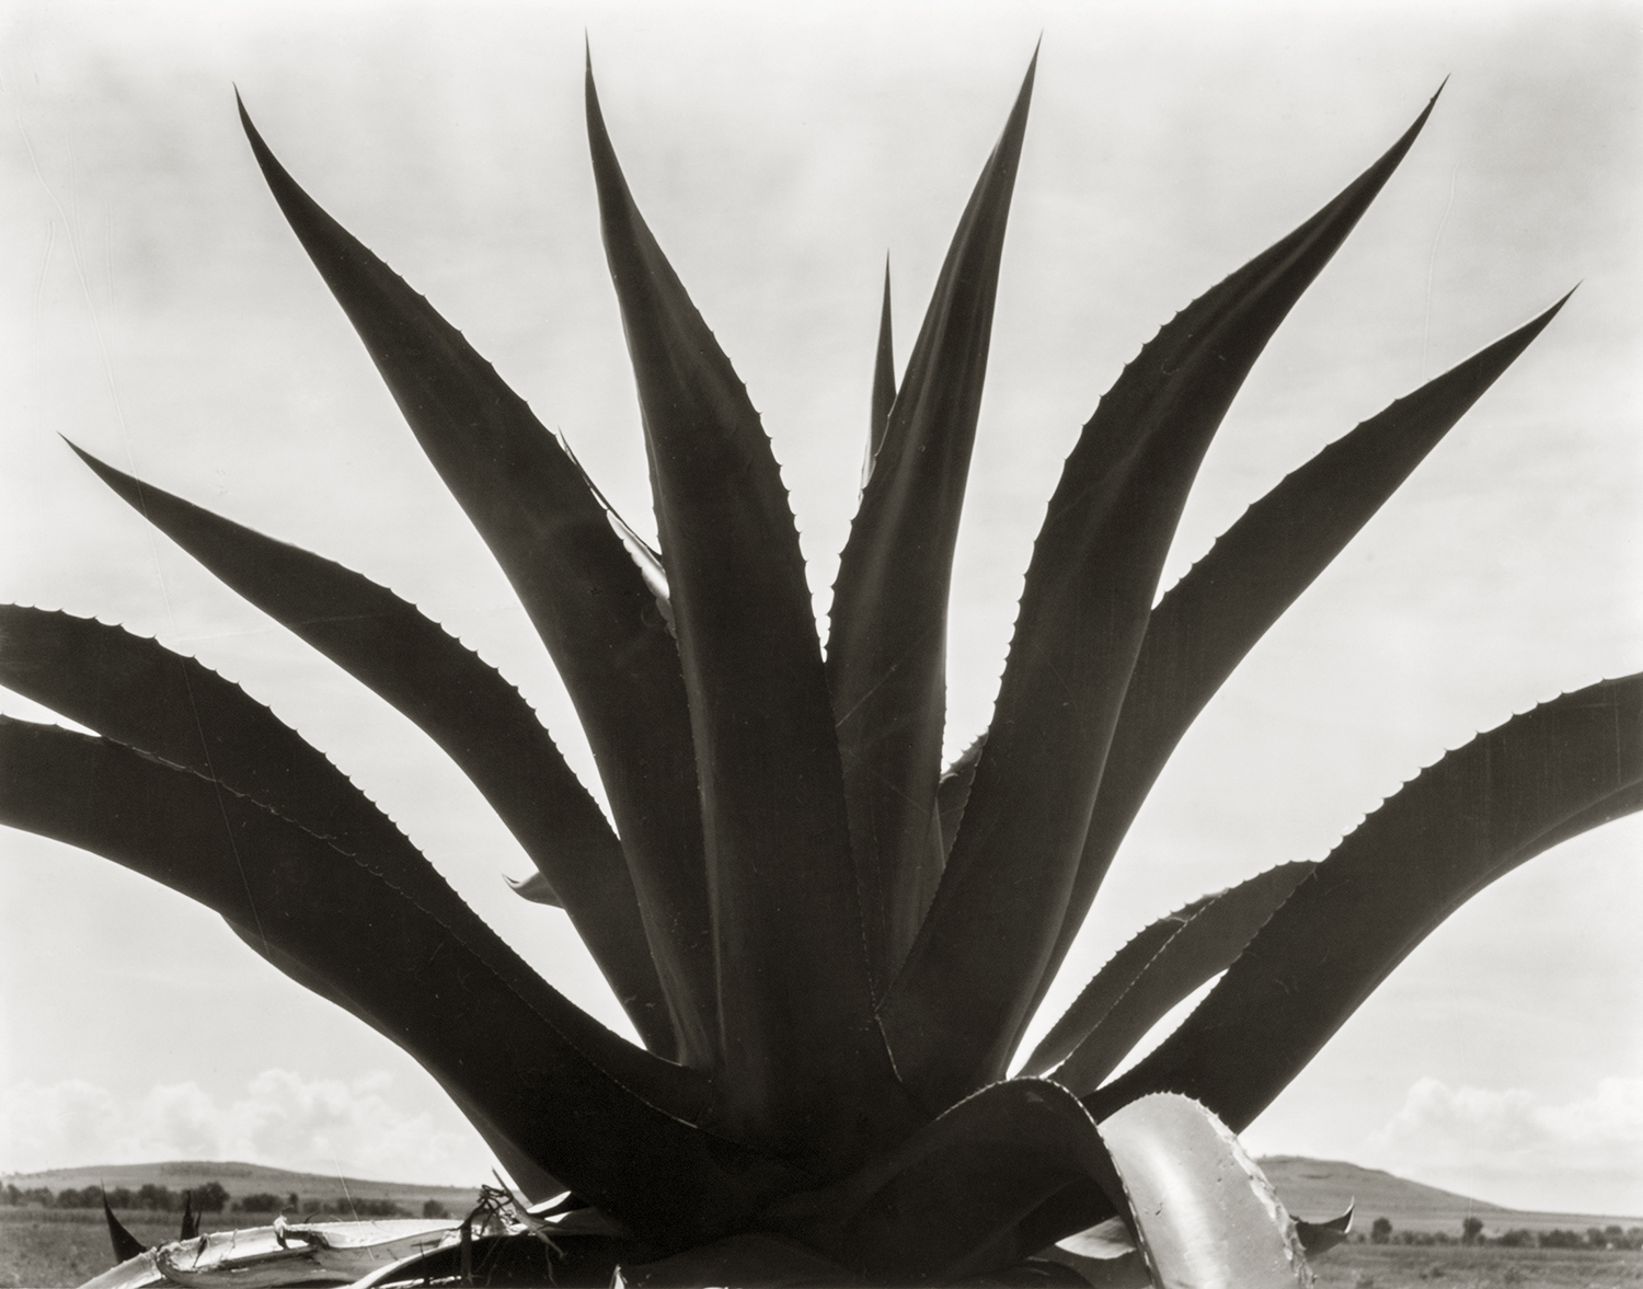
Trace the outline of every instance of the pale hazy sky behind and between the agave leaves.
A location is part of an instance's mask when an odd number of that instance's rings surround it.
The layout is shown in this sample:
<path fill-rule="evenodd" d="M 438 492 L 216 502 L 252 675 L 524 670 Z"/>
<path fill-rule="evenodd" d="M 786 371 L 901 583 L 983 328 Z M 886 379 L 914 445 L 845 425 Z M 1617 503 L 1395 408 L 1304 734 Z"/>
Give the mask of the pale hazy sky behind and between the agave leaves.
<path fill-rule="evenodd" d="M 268 197 L 309 190 L 562 429 L 644 458 L 582 118 L 764 414 L 826 608 L 889 251 L 899 360 L 1043 34 L 960 544 L 950 744 L 989 714 L 1078 427 L 1176 309 L 1424 136 L 1211 450 L 1171 581 L 1323 443 L 1584 282 L 1199 719 L 1043 1023 L 1150 918 L 1321 857 L 1515 711 L 1643 662 L 1640 21 L 1584 3 L 0 5 L 0 598 L 158 634 L 325 749 L 621 1025 L 527 860 L 407 722 L 199 571 L 58 433 L 421 604 L 588 772 L 488 552 Z M 41 718 L 0 695 L 0 709 Z M 591 773 L 587 775 L 591 782 Z M 1638 821 L 1420 947 L 1250 1128 L 1489 1200 L 1643 1213 Z M 222 1158 L 429 1182 L 490 1159 L 398 1049 L 117 865 L 0 833 L 0 1171 Z"/>

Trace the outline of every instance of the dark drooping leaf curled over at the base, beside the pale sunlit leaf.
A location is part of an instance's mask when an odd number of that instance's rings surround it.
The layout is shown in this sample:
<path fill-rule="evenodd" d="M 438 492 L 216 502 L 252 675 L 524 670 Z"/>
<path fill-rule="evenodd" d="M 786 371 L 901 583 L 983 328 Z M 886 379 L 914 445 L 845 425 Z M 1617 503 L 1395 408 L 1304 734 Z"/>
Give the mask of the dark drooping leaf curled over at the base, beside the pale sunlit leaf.
<path fill-rule="evenodd" d="M 764 1222 L 869 1284 L 948 1284 L 1037 1253 L 1042 1243 L 1019 1240 L 1022 1218 L 1066 1186 L 1091 1181 L 1112 1197 L 1091 1220 L 1117 1212 L 1117 1172 L 1078 1100 L 1042 1079 L 1010 1079 L 955 1105 L 856 1176 L 794 1195 Z"/>

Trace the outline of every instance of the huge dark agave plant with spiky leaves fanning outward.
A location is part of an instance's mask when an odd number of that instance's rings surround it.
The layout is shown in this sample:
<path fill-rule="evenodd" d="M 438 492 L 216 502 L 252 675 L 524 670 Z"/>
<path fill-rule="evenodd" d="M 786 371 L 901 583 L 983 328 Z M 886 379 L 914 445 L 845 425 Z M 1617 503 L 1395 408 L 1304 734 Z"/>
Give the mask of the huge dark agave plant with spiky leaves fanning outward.
<path fill-rule="evenodd" d="M 0 609 L 0 683 L 94 731 L 0 718 L 0 819 L 205 903 L 404 1048 L 527 1197 L 568 1192 L 518 1236 L 536 1258 L 518 1274 L 541 1276 L 549 1235 L 560 1284 L 618 1268 L 629 1284 L 1043 1282 L 1078 1274 L 1040 1255 L 1083 1232 L 1076 1248 L 1112 1255 L 1088 1276 L 1306 1282 L 1303 1248 L 1344 1223 L 1291 1220 L 1234 1135 L 1454 908 L 1643 805 L 1643 680 L 1569 693 L 1423 770 L 1324 860 L 1140 929 L 1022 1061 L 1194 716 L 1562 307 L 1331 443 L 1155 603 L 1227 406 L 1428 103 L 1101 397 L 1033 548 L 994 719 L 943 767 L 950 571 L 1032 82 L 900 379 L 886 282 L 825 647 L 759 415 L 634 205 L 591 69 L 659 548 L 242 108 L 274 200 L 559 668 L 610 818 L 518 691 L 421 611 L 81 452 L 452 757 L 536 864 L 521 895 L 565 910 L 642 1046 L 532 972 L 238 686 L 118 627 Z M 455 1274 L 449 1250 L 430 1256 L 394 1274 Z"/>

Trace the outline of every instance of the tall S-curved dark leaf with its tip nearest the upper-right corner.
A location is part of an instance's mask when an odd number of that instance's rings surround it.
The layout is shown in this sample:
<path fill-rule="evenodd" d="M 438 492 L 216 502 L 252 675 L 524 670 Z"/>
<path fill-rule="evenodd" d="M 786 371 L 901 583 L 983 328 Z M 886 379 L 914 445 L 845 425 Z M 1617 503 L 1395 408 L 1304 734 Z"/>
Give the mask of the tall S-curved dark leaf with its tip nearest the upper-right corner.
<path fill-rule="evenodd" d="M 994 1077 L 1014 1051 L 1198 463 L 1267 340 L 1429 112 L 1318 215 L 1167 323 L 1084 425 L 1027 570 L 964 823 L 881 1008 L 897 1071 L 930 1105 Z"/>

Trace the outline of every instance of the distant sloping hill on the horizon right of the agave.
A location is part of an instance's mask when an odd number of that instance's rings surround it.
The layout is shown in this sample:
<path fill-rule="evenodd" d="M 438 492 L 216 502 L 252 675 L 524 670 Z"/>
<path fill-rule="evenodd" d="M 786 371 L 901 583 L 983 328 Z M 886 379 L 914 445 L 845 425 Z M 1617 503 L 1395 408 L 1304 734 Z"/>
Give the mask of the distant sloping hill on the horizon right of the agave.
<path fill-rule="evenodd" d="M 1587 1227 L 1643 1227 L 1643 1217 L 1613 1217 L 1599 1213 L 1533 1213 L 1505 1209 L 1480 1199 L 1439 1190 L 1436 1186 L 1395 1177 L 1374 1167 L 1360 1167 L 1342 1159 L 1301 1159 L 1293 1154 L 1275 1154 L 1260 1159 L 1260 1167 L 1278 1190 L 1278 1197 L 1296 1217 L 1334 1217 L 1357 1200 L 1354 1230 L 1367 1232 L 1369 1225 L 1383 1217 L 1393 1230 L 1452 1232 L 1459 1235 L 1467 1217 L 1484 1218 L 1484 1230 L 1505 1232 L 1525 1228 L 1531 1232 L 1564 1230 L 1584 1232 Z"/>

